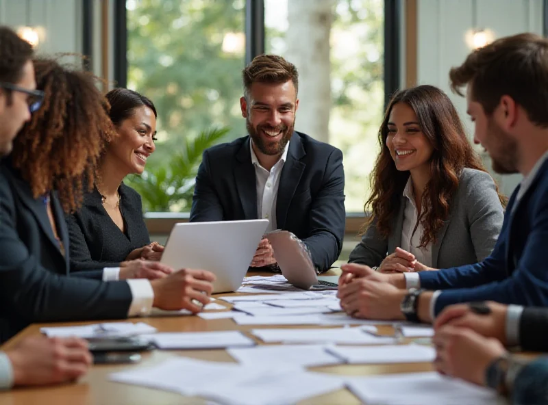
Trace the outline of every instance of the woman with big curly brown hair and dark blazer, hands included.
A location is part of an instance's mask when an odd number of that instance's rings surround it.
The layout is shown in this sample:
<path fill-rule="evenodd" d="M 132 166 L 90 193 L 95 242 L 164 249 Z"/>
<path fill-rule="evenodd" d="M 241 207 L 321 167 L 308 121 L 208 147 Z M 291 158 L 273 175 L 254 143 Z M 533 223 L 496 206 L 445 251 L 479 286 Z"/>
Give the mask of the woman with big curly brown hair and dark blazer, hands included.
<path fill-rule="evenodd" d="M 201 311 L 195 301 L 209 302 L 214 280 L 203 270 L 134 261 L 124 278 L 146 277 L 143 267 L 165 272 L 151 281 L 108 283 L 91 279 L 102 270 L 69 274 L 64 213 L 79 208 L 83 183 L 94 184 L 115 131 L 92 75 L 55 60 L 37 60 L 34 69 L 44 103 L 0 167 L 0 343 L 33 322 L 121 319 L 147 315 L 152 306 Z"/>

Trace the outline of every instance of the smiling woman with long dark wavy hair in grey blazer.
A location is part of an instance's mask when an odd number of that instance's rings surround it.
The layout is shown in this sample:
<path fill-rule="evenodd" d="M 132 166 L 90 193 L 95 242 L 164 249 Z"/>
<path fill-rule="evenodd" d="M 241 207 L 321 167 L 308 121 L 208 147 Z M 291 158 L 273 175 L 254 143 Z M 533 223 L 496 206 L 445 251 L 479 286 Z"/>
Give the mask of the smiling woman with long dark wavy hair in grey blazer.
<path fill-rule="evenodd" d="M 397 92 L 379 143 L 365 205 L 371 217 L 349 261 L 380 272 L 417 272 L 488 257 L 504 198 L 449 97 L 434 86 Z"/>

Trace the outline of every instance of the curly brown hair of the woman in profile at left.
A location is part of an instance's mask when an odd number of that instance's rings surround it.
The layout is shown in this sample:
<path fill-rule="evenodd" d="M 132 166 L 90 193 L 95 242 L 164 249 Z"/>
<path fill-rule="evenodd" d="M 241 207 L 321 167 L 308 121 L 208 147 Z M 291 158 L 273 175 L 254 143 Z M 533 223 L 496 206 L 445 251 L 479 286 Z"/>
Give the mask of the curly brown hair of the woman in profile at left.
<path fill-rule="evenodd" d="M 14 140 L 12 162 L 34 198 L 56 190 L 66 213 L 82 203 L 83 184 L 93 185 L 104 146 L 114 136 L 110 106 L 90 73 L 53 59 L 34 60 L 44 103 Z"/>

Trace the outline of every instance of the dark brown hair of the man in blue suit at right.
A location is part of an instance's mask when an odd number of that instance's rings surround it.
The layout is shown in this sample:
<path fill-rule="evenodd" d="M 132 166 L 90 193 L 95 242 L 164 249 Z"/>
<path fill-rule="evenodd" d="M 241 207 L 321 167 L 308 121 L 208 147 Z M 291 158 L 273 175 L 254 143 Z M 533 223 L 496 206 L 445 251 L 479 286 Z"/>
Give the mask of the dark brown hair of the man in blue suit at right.
<path fill-rule="evenodd" d="M 548 127 L 548 40 L 536 34 L 500 38 L 477 49 L 449 73 L 456 93 L 471 84 L 472 99 L 493 114 L 508 95 L 535 125 Z"/>

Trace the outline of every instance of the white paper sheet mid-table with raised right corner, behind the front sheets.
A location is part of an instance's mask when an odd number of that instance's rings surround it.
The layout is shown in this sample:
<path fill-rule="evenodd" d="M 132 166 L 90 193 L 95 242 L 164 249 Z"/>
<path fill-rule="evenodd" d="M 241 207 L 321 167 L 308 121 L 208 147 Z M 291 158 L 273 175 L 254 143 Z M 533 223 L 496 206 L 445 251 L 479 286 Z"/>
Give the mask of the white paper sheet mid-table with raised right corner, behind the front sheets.
<path fill-rule="evenodd" d="M 394 344 L 392 337 L 379 338 L 362 331 L 368 328 L 375 332 L 375 326 L 362 328 L 299 328 L 299 329 L 253 329 L 251 334 L 265 343 L 340 343 L 350 345 Z"/>

